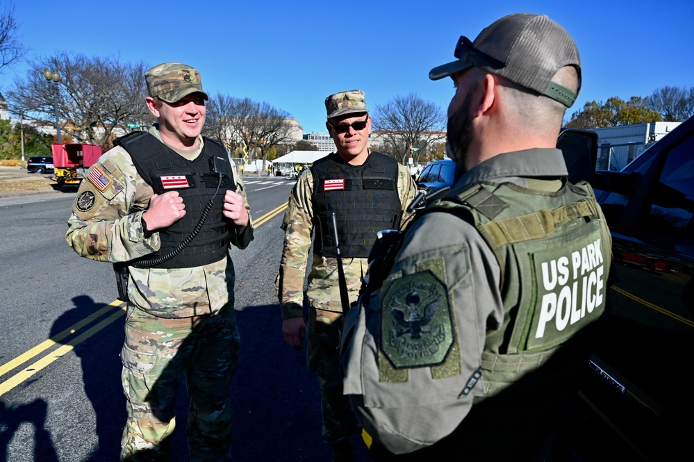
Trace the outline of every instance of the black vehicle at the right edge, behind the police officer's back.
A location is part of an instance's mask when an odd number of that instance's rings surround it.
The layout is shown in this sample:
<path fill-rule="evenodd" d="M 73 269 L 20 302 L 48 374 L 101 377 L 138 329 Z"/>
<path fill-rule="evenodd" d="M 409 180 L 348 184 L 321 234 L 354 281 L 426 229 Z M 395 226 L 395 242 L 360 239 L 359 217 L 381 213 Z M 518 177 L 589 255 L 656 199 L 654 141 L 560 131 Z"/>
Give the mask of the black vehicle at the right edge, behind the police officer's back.
<path fill-rule="evenodd" d="M 677 460 L 694 430 L 694 117 L 593 185 L 614 265 L 577 460 Z"/>

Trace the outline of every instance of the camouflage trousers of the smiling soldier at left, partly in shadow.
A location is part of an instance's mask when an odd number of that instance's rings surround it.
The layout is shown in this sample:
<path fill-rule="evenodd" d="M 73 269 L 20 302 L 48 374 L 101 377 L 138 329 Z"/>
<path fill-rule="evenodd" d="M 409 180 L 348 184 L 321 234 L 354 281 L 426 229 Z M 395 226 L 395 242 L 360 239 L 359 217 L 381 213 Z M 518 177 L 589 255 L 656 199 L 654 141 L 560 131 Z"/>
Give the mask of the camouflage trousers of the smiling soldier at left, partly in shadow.
<path fill-rule="evenodd" d="M 128 421 L 121 461 L 171 460 L 176 390 L 190 397 L 190 461 L 231 460 L 229 400 L 240 337 L 233 301 L 215 315 L 163 318 L 129 304 L 121 352 Z"/>

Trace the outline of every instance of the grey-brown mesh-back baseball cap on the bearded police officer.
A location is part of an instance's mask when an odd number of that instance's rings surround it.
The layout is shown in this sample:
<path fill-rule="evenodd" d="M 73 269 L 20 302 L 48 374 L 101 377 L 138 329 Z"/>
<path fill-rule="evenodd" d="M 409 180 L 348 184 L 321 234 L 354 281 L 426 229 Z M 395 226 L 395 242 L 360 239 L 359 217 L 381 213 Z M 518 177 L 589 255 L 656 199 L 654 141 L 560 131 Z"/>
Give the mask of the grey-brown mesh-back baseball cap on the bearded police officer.
<path fill-rule="evenodd" d="M 474 42 L 461 37 L 456 58 L 431 69 L 429 79 L 443 79 L 477 66 L 570 107 L 578 92 L 552 82 L 559 69 L 570 65 L 578 72 L 581 89 L 581 60 L 576 43 L 563 27 L 545 15 L 504 16 L 484 28 Z"/>

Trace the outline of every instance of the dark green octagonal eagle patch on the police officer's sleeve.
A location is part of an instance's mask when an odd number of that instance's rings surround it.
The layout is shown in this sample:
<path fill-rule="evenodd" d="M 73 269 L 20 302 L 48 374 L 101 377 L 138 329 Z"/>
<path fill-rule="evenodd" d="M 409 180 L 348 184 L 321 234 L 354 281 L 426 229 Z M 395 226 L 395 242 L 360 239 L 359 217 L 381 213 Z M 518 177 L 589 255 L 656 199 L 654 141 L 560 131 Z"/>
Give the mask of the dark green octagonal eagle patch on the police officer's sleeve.
<path fill-rule="evenodd" d="M 445 284 L 428 270 L 393 281 L 381 298 L 381 349 L 395 368 L 439 365 L 453 343 Z"/>

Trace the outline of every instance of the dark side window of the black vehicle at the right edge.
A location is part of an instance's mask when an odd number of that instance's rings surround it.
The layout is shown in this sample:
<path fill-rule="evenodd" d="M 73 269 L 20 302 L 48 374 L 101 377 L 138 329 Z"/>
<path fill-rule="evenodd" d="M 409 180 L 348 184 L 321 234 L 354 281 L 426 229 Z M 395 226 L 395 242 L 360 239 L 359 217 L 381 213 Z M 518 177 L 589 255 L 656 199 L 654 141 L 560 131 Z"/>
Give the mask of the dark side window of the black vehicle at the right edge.
<path fill-rule="evenodd" d="M 671 149 L 646 198 L 645 230 L 676 245 L 694 244 L 694 136 Z"/>

